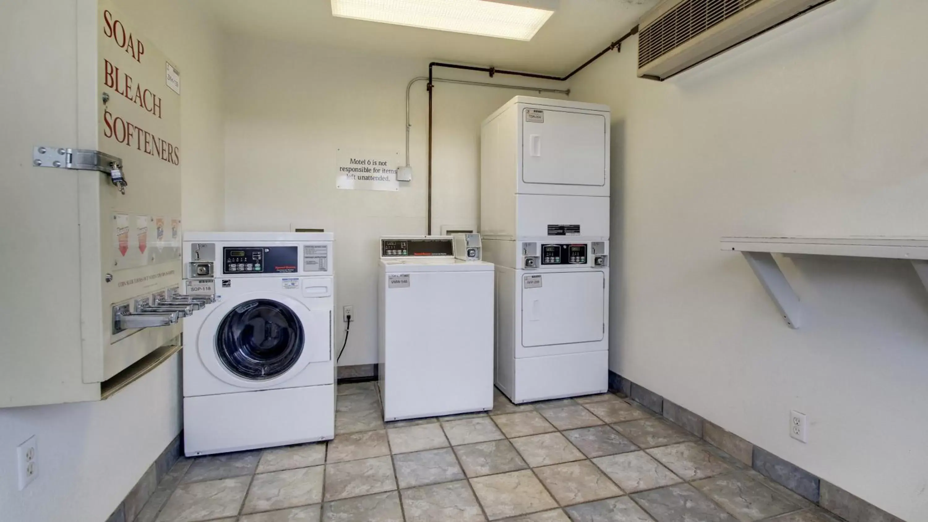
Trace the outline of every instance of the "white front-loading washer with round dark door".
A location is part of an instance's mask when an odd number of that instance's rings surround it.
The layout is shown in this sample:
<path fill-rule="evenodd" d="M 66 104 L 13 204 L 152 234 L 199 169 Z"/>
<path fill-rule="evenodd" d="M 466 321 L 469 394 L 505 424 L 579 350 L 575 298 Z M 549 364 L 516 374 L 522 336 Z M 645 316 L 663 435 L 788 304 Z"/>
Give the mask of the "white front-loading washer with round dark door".
<path fill-rule="evenodd" d="M 187 456 L 332 439 L 331 234 L 184 235 Z M 194 298 L 191 298 L 194 299 Z"/>

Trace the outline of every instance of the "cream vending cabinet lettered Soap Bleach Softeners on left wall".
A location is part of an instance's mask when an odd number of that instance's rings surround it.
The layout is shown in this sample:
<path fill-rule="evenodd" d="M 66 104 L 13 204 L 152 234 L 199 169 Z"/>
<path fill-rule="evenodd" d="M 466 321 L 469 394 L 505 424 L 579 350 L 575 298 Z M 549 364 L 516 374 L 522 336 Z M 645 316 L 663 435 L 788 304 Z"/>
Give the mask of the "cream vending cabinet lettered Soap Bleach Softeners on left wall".
<path fill-rule="evenodd" d="M 146 307 L 182 276 L 180 71 L 144 23 L 112 0 L 0 19 L 0 407 L 101 400 L 177 350 L 183 307 Z"/>

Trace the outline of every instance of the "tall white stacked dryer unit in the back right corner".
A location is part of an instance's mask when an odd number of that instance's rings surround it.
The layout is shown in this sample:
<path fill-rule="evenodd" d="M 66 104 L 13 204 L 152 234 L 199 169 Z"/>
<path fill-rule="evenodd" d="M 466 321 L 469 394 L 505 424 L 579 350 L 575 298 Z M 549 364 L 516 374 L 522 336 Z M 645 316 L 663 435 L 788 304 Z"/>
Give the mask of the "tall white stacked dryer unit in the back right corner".
<path fill-rule="evenodd" d="M 483 121 L 496 387 L 513 402 L 609 388 L 609 130 L 606 106 L 529 96 Z"/>

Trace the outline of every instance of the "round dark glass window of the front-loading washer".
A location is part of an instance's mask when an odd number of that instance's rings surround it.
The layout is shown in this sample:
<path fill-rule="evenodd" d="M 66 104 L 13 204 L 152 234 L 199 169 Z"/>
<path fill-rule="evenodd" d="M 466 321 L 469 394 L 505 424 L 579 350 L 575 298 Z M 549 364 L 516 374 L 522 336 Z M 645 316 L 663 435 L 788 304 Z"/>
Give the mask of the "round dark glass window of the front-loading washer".
<path fill-rule="evenodd" d="M 239 304 L 216 330 L 219 360 L 233 374 L 265 380 L 287 372 L 303 353 L 303 325 L 290 307 L 272 299 Z"/>

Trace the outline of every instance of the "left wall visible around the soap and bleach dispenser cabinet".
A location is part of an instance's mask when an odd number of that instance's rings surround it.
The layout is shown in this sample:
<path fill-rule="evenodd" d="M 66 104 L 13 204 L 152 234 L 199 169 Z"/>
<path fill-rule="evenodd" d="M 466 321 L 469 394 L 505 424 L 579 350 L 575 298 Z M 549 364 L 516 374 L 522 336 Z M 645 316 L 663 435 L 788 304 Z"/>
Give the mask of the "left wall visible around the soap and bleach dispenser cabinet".
<path fill-rule="evenodd" d="M 123 0 L 120 8 L 181 70 L 184 225 L 221 228 L 219 33 L 182 0 Z M 180 432 L 180 402 L 174 356 L 108 401 L 0 409 L 0 520 L 105 520 Z M 32 435 L 39 477 L 19 491 L 16 447 Z"/>

